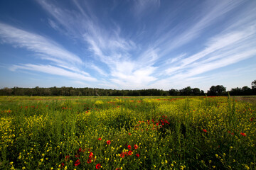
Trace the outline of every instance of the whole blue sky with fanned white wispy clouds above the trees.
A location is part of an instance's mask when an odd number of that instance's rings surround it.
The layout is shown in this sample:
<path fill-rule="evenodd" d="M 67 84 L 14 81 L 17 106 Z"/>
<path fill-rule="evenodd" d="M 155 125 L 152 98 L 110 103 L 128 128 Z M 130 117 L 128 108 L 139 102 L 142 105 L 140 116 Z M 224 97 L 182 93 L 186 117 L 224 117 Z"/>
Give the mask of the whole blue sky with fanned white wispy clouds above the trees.
<path fill-rule="evenodd" d="M 183 89 L 256 79 L 256 1 L 0 1 L 0 88 Z"/>

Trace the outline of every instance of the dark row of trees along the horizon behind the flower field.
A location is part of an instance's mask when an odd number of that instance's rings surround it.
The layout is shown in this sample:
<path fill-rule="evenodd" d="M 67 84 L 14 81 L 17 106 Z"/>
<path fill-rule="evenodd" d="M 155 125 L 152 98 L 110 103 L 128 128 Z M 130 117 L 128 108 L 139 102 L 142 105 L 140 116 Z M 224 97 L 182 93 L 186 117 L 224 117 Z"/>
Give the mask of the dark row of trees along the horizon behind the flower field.
<path fill-rule="evenodd" d="M 211 86 L 205 93 L 198 88 L 190 86 L 183 89 L 170 89 L 169 91 L 159 89 L 142 90 L 116 90 L 97 88 L 73 88 L 73 87 L 49 87 L 42 88 L 7 88 L 0 89 L 0 96 L 248 96 L 256 95 L 256 80 L 252 81 L 252 88 L 243 86 L 226 91 L 223 85 Z"/>

